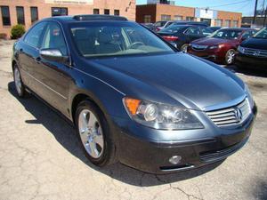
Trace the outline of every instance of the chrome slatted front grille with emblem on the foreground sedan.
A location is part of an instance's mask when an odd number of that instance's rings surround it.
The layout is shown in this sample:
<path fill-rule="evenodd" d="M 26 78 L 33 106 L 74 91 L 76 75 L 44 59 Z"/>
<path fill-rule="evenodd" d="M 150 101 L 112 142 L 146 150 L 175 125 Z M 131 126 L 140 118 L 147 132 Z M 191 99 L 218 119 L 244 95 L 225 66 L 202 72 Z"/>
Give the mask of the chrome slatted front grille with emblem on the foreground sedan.
<path fill-rule="evenodd" d="M 247 98 L 238 105 L 230 108 L 206 111 L 206 115 L 219 127 L 241 124 L 250 114 L 251 108 Z"/>

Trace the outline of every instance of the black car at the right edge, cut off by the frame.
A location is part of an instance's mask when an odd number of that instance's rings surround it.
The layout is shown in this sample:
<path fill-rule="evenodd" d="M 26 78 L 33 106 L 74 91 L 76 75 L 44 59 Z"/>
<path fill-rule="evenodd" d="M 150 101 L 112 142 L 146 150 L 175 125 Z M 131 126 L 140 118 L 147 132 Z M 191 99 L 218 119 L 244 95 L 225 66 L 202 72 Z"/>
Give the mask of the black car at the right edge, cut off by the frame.
<path fill-rule="evenodd" d="M 242 42 L 238 50 L 235 60 L 238 68 L 267 70 L 267 28 Z"/>

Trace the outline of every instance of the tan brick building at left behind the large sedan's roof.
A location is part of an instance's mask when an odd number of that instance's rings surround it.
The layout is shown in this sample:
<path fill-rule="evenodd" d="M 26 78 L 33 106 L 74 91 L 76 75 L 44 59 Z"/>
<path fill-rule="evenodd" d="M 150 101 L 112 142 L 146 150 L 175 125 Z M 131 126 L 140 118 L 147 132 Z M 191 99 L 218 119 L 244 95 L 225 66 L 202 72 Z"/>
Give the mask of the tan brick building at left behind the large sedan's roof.
<path fill-rule="evenodd" d="M 59 15 L 110 14 L 135 20 L 135 0 L 0 0 L 0 35 L 12 26 L 29 28 L 36 20 Z"/>

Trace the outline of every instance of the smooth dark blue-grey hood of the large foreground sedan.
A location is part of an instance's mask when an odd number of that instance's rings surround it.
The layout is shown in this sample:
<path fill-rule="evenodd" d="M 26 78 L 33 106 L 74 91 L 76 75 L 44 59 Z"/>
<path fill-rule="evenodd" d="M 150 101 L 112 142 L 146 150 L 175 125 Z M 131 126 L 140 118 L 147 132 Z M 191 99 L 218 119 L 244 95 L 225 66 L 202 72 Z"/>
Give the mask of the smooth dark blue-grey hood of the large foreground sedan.
<path fill-rule="evenodd" d="M 109 74 L 114 73 L 109 84 L 135 98 L 142 98 L 140 93 L 154 92 L 157 96 L 165 94 L 187 108 L 203 110 L 244 95 L 244 84 L 237 76 L 186 53 L 105 58 L 93 63 Z M 118 82 L 117 74 L 124 76 L 123 83 Z"/>

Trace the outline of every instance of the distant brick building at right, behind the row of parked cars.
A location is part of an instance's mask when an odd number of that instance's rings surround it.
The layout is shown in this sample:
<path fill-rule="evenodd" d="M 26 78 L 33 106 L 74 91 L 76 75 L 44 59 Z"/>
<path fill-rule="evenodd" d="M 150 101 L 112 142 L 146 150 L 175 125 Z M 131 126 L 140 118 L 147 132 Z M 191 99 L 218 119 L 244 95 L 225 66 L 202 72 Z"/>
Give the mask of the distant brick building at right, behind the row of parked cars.
<path fill-rule="evenodd" d="M 154 23 L 158 20 L 206 21 L 211 26 L 240 27 L 242 13 L 177 6 L 172 4 L 142 4 L 136 6 L 136 21 Z"/>

